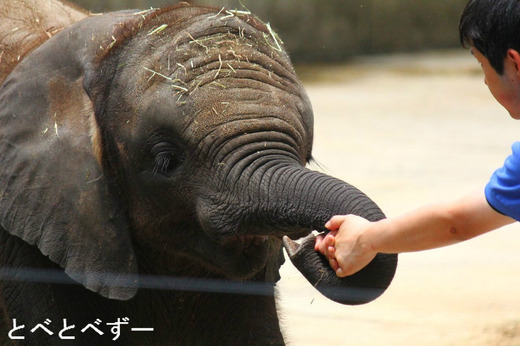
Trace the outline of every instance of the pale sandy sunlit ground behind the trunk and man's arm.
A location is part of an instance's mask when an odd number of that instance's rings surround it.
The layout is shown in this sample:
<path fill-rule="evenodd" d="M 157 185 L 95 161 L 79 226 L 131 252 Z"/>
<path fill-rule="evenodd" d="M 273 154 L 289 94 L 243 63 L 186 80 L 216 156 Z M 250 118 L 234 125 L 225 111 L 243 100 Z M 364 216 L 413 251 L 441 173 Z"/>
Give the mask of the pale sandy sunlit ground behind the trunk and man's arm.
<path fill-rule="evenodd" d="M 315 114 L 311 168 L 367 193 L 388 216 L 483 189 L 520 139 L 468 51 L 300 69 Z M 362 306 L 333 303 L 288 261 L 278 285 L 290 345 L 520 345 L 520 224 L 402 254 Z"/>

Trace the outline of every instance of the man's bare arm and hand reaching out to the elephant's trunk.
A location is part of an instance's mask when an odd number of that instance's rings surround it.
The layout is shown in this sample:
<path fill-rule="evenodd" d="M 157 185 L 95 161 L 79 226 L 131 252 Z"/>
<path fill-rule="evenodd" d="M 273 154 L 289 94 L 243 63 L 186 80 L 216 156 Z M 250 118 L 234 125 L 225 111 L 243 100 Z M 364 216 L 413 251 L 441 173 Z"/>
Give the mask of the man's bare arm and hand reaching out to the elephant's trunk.
<path fill-rule="evenodd" d="M 334 216 L 326 224 L 331 233 L 318 237 L 315 248 L 329 258 L 338 276 L 347 276 L 365 267 L 377 253 L 451 245 L 514 221 L 495 211 L 483 192 L 476 192 L 378 222 L 355 215 Z"/>

